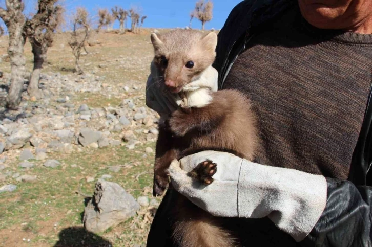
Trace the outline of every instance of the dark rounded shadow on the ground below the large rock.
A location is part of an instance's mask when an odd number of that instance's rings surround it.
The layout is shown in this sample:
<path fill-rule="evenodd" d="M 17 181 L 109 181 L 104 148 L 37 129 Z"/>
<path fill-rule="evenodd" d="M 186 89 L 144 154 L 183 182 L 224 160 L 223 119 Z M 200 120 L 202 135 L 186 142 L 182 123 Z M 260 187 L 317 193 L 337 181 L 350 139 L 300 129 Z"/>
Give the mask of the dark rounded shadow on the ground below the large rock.
<path fill-rule="evenodd" d="M 60 231 L 54 247 L 111 247 L 112 243 L 83 227 L 69 227 Z"/>

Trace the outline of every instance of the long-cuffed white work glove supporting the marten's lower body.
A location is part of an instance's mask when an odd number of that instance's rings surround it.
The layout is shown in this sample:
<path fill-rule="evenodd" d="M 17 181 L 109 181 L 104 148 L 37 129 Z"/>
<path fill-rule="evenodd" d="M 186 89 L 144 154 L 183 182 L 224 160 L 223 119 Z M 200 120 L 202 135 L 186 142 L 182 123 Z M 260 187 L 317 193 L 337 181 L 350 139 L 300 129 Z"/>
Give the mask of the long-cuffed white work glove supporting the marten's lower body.
<path fill-rule="evenodd" d="M 215 179 L 204 185 L 187 175 L 201 162 L 217 164 Z M 325 177 L 256 164 L 230 153 L 204 151 L 172 162 L 174 188 L 214 216 L 263 218 L 302 241 L 326 204 Z"/>

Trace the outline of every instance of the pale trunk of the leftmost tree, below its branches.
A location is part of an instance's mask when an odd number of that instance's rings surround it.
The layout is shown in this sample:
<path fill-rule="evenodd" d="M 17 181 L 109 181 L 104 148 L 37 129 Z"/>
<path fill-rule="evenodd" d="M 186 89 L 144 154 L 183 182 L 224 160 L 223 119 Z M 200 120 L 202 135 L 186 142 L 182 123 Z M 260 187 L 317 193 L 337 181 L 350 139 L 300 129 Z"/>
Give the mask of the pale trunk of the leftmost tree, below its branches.
<path fill-rule="evenodd" d="M 20 96 L 23 89 L 24 76 L 26 72 L 26 59 L 24 55 L 25 37 L 23 34 L 23 23 L 13 21 L 8 27 L 9 48 L 8 55 L 11 64 L 10 89 L 7 97 L 7 106 L 16 109 L 20 103 Z"/>

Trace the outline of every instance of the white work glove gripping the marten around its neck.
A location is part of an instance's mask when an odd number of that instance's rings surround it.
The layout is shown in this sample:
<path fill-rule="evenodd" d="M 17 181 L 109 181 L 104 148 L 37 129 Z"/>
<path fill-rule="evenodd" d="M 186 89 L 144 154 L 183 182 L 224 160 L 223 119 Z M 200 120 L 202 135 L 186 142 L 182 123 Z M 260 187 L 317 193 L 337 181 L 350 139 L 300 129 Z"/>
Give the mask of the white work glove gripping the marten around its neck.
<path fill-rule="evenodd" d="M 154 62 L 150 65 L 151 74 L 146 84 L 146 105 L 157 111 L 160 116 L 171 114 L 182 103 L 178 94 L 170 93 L 164 85 L 164 78 Z M 217 91 L 218 72 L 212 66 L 207 68 L 198 78 L 183 87 L 184 92 L 195 92 L 201 88 Z"/>

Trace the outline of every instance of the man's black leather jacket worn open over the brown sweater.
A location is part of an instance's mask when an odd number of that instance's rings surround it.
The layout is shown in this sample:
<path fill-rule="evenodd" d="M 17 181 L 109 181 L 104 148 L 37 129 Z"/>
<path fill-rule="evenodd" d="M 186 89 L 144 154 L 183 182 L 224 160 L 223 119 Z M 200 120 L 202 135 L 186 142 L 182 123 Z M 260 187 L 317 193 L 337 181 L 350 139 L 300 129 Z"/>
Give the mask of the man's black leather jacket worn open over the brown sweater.
<path fill-rule="evenodd" d="M 214 67 L 219 72 L 219 89 L 223 88 L 226 75 L 237 56 L 244 51 L 245 44 L 255 29 L 273 20 L 295 4 L 297 1 L 294 0 L 246 0 L 232 10 L 218 35 Z M 313 231 L 296 245 L 372 246 L 372 187 L 369 187 L 372 186 L 372 175 L 368 172 L 372 165 L 371 91 L 372 84 L 348 181 L 326 178 L 328 191 L 325 210 Z M 164 225 L 167 221 L 164 211 L 167 211 L 170 203 L 169 194 L 164 197 L 155 216 L 148 237 L 148 246 L 171 246 L 166 240 L 169 239 L 170 230 Z M 161 234 L 165 235 L 161 236 Z M 286 239 L 283 238 L 281 246 L 292 246 L 289 242 L 285 243 L 289 241 Z"/>

